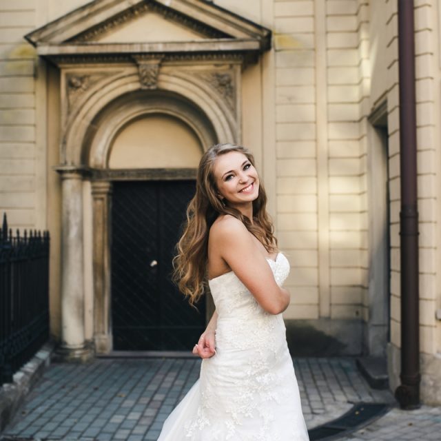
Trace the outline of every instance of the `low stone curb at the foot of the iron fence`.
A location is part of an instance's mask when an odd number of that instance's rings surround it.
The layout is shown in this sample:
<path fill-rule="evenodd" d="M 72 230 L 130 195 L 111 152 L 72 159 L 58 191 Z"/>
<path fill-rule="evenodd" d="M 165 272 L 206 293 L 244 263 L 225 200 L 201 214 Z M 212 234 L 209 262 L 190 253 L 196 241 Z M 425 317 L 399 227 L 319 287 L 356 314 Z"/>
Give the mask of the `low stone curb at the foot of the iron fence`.
<path fill-rule="evenodd" d="M 14 382 L 0 387 L 0 432 L 12 421 L 35 382 L 50 365 L 54 347 L 54 342 L 45 343 L 19 371 L 14 373 Z"/>

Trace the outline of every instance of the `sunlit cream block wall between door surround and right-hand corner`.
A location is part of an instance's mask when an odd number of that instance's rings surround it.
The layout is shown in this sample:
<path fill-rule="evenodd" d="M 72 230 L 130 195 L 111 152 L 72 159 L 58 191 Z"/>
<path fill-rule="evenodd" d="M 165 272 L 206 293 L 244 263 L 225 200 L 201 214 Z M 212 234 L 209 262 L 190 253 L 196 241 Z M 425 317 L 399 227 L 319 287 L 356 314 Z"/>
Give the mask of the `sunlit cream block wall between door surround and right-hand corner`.
<path fill-rule="evenodd" d="M 300 320 L 289 328 L 314 328 L 318 346 L 336 338 L 340 353 L 360 353 L 367 273 L 360 135 L 360 100 L 368 91 L 360 63 L 366 5 L 274 1 L 273 13 L 276 229 L 292 265 L 285 318 Z M 332 327 L 325 325 L 329 318 Z M 340 340 L 349 329 L 351 338 Z"/>

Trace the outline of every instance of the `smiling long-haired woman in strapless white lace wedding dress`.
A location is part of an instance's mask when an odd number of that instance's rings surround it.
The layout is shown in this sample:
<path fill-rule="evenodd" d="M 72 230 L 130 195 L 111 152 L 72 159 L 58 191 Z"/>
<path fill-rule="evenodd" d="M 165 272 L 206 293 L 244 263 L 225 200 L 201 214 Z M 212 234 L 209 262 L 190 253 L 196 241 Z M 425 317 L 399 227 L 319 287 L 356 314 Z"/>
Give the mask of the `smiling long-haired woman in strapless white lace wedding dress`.
<path fill-rule="evenodd" d="M 216 311 L 193 353 L 201 376 L 158 441 L 308 440 L 282 312 L 289 273 L 252 154 L 220 144 L 201 158 L 174 276 L 194 305 L 208 279 Z"/>

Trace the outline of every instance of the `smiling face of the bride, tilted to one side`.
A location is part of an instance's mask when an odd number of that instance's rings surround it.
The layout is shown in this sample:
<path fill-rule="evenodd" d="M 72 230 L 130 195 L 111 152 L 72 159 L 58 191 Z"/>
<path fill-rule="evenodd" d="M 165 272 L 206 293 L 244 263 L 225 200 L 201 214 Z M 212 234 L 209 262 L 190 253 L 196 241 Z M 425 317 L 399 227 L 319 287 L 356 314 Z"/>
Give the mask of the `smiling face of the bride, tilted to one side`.
<path fill-rule="evenodd" d="M 258 197 L 259 177 L 245 154 L 233 151 L 219 155 L 213 172 L 219 198 L 225 198 L 231 207 L 247 206 Z"/>

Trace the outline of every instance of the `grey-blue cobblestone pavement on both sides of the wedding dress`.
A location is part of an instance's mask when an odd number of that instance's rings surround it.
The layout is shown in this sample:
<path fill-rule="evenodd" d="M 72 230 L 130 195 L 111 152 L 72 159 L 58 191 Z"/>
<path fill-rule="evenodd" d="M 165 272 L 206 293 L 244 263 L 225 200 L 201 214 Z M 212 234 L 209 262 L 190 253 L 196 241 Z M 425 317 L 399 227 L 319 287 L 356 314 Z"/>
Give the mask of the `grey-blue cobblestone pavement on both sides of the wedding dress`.
<path fill-rule="evenodd" d="M 389 392 L 369 388 L 351 358 L 299 358 L 294 366 L 309 428 L 338 418 L 355 402 L 393 402 Z M 193 358 L 51 365 L 3 435 L 65 441 L 156 440 L 167 415 L 198 378 L 199 367 L 200 360 Z M 393 409 L 345 440 L 440 440 L 440 433 L 440 409 L 410 413 Z"/>

